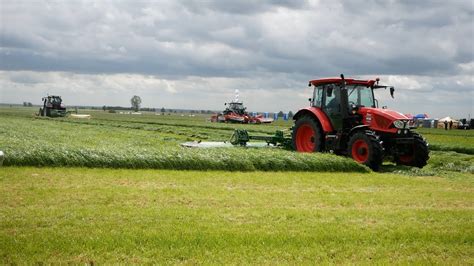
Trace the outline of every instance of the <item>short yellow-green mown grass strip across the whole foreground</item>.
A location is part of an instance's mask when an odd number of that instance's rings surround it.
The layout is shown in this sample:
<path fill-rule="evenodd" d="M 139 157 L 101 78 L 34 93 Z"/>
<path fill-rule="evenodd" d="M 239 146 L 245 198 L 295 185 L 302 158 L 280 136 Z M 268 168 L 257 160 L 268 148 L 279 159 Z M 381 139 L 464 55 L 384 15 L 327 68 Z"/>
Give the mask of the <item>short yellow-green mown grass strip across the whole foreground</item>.
<path fill-rule="evenodd" d="M 0 263 L 472 264 L 472 176 L 4 167 Z"/>

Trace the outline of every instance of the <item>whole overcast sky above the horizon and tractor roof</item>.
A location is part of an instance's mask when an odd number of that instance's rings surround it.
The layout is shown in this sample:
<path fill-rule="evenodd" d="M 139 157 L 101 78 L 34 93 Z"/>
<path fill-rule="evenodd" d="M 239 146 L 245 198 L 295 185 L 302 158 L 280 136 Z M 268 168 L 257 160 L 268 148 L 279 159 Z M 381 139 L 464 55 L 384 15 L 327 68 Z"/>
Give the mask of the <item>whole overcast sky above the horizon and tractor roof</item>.
<path fill-rule="evenodd" d="M 383 105 L 474 116 L 474 1 L 0 0 L 0 102 L 220 110 L 308 105 L 308 80 L 376 78 Z"/>

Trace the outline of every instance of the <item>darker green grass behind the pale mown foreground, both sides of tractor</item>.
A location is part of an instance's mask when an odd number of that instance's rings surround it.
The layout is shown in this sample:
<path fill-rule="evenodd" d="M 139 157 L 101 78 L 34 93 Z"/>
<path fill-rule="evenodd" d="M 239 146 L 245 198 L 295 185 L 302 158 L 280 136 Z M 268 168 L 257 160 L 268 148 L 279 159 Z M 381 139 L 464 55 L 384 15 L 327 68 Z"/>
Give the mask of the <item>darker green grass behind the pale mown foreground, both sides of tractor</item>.
<path fill-rule="evenodd" d="M 1 108 L 0 150 L 6 165 L 87 166 L 243 171 L 366 171 L 350 160 L 327 154 L 297 154 L 279 150 L 189 150 L 179 144 L 189 140 L 228 140 L 232 129 L 245 127 L 254 134 L 283 129 L 277 125 L 235 125 L 206 122 L 207 116 L 142 116 L 92 111 L 90 120 L 38 119 L 31 108 Z M 473 173 L 471 131 L 419 130 L 430 142 L 427 167 L 418 170 L 388 165 L 383 171 L 409 175 L 445 172 Z M 260 133 L 258 133 L 260 132 Z M 474 133 L 474 131 L 472 131 Z M 441 143 L 441 144 L 440 144 Z M 456 146 L 457 145 L 457 146 Z M 454 148 L 453 148 L 454 147 Z M 433 163 L 431 163 L 431 161 Z"/>

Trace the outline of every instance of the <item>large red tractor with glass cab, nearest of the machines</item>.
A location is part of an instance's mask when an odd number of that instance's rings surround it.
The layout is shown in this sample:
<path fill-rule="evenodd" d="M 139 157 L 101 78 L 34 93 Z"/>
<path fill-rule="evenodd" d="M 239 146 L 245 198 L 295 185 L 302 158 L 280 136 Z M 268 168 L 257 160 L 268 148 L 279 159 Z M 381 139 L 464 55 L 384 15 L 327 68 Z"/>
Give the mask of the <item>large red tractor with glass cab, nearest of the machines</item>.
<path fill-rule="evenodd" d="M 293 117 L 293 148 L 299 152 L 333 152 L 378 170 L 391 158 L 397 164 L 423 167 L 429 159 L 428 144 L 412 130 L 405 115 L 378 108 L 376 80 L 340 78 L 311 80 L 311 106 Z"/>

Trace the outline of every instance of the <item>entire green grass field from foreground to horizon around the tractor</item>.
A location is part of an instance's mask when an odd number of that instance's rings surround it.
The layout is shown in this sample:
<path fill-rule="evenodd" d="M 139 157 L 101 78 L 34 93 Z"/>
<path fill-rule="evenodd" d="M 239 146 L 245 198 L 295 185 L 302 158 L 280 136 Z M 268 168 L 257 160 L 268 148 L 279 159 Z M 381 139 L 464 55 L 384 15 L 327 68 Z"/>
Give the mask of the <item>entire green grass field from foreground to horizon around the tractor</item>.
<path fill-rule="evenodd" d="M 0 263 L 474 264 L 473 131 L 419 129 L 423 169 L 331 154 L 189 149 L 208 116 L 37 118 L 0 108 Z"/>

